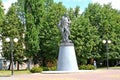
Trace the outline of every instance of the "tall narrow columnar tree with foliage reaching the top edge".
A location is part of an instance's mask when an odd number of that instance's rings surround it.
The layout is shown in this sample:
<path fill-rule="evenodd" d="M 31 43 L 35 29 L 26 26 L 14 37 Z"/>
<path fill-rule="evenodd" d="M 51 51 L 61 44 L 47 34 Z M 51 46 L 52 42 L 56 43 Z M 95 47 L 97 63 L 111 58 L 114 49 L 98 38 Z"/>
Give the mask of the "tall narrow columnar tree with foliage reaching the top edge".
<path fill-rule="evenodd" d="M 39 32 L 42 27 L 42 18 L 44 14 L 44 0 L 25 0 L 25 25 L 26 25 L 26 55 L 29 58 L 37 60 L 37 54 L 40 50 Z M 34 61 L 37 63 L 37 61 Z"/>

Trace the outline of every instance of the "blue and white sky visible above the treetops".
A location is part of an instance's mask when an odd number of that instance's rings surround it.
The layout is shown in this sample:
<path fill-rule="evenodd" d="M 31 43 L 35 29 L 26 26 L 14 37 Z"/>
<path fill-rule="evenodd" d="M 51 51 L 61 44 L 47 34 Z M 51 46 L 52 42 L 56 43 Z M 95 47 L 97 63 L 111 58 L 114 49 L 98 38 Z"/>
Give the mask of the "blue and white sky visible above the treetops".
<path fill-rule="evenodd" d="M 11 4 L 16 1 L 17 0 L 2 0 L 6 11 L 11 6 Z M 63 5 L 65 5 L 67 8 L 70 7 L 75 8 L 76 6 L 79 6 L 81 12 L 83 12 L 85 8 L 88 7 L 89 3 L 100 3 L 101 5 L 112 3 L 113 8 L 120 10 L 120 0 L 54 0 L 54 1 L 57 3 L 62 2 Z"/>

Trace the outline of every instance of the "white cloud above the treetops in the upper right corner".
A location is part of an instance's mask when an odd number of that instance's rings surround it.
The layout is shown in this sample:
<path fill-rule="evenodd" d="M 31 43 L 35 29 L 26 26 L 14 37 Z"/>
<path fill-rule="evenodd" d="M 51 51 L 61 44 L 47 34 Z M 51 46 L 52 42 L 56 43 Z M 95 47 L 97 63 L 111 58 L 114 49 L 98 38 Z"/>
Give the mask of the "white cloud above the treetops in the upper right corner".
<path fill-rule="evenodd" d="M 120 10 L 120 0 L 92 0 L 92 3 L 112 4 L 112 8 Z"/>

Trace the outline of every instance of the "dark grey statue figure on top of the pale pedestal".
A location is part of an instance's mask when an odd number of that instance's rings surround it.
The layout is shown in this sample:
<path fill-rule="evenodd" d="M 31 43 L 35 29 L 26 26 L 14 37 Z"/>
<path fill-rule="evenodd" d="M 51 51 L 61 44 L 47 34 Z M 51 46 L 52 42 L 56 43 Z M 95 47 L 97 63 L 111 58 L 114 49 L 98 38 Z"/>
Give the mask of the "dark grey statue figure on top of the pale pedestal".
<path fill-rule="evenodd" d="M 70 35 L 70 19 L 67 17 L 65 14 L 62 16 L 61 20 L 59 21 L 58 28 L 62 33 L 62 42 L 69 43 L 71 40 L 69 40 L 69 35 Z"/>

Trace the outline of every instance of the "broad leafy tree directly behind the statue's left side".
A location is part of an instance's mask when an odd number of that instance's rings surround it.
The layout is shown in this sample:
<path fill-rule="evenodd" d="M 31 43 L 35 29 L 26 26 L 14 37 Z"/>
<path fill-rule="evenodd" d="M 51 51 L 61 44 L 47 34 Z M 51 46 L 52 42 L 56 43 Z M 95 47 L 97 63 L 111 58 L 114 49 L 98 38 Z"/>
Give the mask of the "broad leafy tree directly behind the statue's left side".
<path fill-rule="evenodd" d="M 53 0 L 46 0 L 43 27 L 40 29 L 40 54 L 42 66 L 47 62 L 55 62 L 58 55 L 60 32 L 57 29 L 60 18 L 66 12 L 62 3 L 53 3 Z"/>

